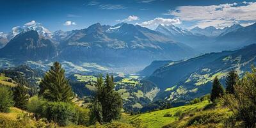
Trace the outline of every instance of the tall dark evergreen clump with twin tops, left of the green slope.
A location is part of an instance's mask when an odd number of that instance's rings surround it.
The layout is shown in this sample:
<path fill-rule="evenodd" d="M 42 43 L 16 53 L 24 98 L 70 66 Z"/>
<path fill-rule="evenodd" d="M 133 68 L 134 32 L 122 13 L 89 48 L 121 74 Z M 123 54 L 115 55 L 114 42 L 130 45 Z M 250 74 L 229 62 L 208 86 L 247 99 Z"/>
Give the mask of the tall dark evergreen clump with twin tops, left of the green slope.
<path fill-rule="evenodd" d="M 111 122 L 111 120 L 120 118 L 122 97 L 114 90 L 115 83 L 113 76 L 107 74 L 105 81 L 103 81 L 102 76 L 99 76 L 97 78 L 96 87 L 97 93 L 94 106 L 99 107 L 100 104 L 102 109 L 96 109 L 96 112 L 93 113 L 102 113 L 103 122 Z M 91 111 L 95 111 L 95 109 Z M 96 116 L 98 117 L 97 121 L 101 120 L 99 114 Z"/>

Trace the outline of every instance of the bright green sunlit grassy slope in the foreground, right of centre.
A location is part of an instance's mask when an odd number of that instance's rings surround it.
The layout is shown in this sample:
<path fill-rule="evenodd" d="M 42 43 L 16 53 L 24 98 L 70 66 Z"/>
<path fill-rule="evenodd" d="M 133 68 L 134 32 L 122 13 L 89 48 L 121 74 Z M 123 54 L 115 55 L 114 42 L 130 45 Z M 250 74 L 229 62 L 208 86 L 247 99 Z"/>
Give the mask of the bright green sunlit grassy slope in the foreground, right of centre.
<path fill-rule="evenodd" d="M 164 110 L 160 110 L 160 111 L 154 111 L 151 113 L 143 113 L 140 115 L 128 116 L 128 118 L 131 121 L 139 119 L 148 128 L 163 127 L 164 125 L 167 125 L 167 124 L 170 124 L 172 122 L 179 120 L 179 117 L 177 117 L 177 116 L 171 116 L 171 117 L 165 116 L 164 117 L 165 113 L 171 113 L 172 115 L 175 115 L 175 113 L 179 110 L 182 110 L 182 112 L 186 112 L 191 109 L 201 109 L 201 108 L 204 108 L 204 106 L 206 106 L 207 104 L 209 104 L 208 100 L 204 100 L 203 102 L 199 102 L 199 103 L 193 104 L 193 105 L 164 109 Z"/>

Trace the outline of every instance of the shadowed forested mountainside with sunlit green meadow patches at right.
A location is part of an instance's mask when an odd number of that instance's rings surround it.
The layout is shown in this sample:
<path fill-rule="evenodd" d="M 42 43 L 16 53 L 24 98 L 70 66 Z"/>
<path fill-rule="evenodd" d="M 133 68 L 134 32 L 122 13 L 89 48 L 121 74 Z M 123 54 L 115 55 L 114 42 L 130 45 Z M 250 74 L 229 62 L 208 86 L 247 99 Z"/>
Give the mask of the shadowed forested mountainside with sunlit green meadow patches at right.
<path fill-rule="evenodd" d="M 213 52 L 158 68 L 146 78 L 161 88 L 154 100 L 188 102 L 210 93 L 216 76 L 225 86 L 225 76 L 232 68 L 241 76 L 256 64 L 255 49 L 256 44 L 253 44 L 237 51 Z"/>

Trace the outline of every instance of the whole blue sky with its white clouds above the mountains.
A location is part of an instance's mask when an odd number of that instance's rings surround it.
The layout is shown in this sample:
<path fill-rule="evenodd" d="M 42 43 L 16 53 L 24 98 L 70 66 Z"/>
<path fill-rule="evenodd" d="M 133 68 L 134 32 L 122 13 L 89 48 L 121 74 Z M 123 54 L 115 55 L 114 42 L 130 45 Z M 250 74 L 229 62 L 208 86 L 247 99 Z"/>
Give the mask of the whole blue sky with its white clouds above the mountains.
<path fill-rule="evenodd" d="M 56 31 L 83 29 L 100 22 L 140 24 L 150 29 L 158 24 L 175 24 L 182 28 L 232 24 L 250 25 L 256 21 L 256 1 L 220 0 L 1 0 L 0 31 L 12 31 L 35 20 Z"/>

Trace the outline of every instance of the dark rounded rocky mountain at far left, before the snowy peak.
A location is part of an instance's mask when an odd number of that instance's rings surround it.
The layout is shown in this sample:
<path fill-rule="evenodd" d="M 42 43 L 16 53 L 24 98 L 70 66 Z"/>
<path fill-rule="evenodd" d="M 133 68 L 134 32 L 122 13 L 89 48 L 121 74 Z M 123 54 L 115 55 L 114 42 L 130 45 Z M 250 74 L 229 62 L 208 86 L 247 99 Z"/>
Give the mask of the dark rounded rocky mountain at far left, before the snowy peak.
<path fill-rule="evenodd" d="M 15 60 L 49 60 L 56 56 L 56 47 L 51 40 L 37 31 L 26 31 L 15 36 L 0 49 L 1 58 Z"/>

